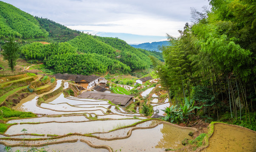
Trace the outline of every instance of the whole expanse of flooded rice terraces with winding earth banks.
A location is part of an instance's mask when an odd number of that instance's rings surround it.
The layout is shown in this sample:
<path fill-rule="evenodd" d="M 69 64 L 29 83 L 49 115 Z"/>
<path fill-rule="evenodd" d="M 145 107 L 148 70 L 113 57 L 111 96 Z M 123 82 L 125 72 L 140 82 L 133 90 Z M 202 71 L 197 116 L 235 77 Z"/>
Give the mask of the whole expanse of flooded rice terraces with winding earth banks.
<path fill-rule="evenodd" d="M 50 92 L 50 91 L 49 91 Z M 139 113 L 126 112 L 107 100 L 64 97 L 63 94 L 37 105 L 37 95 L 25 98 L 14 109 L 31 111 L 39 117 L 11 119 L 13 124 L 0 135 L 0 148 L 12 150 L 27 147 L 48 151 L 162 152 L 166 148 L 182 148 L 183 138 L 191 138 L 195 129 L 180 128 Z M 21 135 L 21 130 L 26 133 Z M 178 138 L 174 138 L 174 134 Z M 21 142 L 25 142 L 21 144 Z"/>

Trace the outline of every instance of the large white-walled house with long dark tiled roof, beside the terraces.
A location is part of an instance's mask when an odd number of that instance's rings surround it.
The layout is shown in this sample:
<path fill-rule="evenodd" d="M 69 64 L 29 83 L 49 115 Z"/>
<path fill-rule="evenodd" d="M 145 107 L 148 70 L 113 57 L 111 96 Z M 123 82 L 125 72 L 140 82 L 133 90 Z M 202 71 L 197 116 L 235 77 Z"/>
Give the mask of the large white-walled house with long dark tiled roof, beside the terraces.
<path fill-rule="evenodd" d="M 96 86 L 96 84 L 98 84 L 98 78 L 99 78 L 99 76 L 96 76 L 94 74 L 90 76 L 84 76 L 84 75 L 58 73 L 58 74 L 55 74 L 54 76 L 56 77 L 56 79 L 75 81 L 76 84 L 81 85 L 85 89 L 91 89 L 92 87 Z"/>

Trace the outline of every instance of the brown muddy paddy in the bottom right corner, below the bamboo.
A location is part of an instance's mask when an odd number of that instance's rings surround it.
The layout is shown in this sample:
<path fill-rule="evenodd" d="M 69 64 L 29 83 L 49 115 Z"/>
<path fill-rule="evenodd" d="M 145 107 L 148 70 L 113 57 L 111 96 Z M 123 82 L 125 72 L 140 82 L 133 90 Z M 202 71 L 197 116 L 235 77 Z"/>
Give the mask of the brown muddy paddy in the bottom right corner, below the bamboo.
<path fill-rule="evenodd" d="M 256 133 L 225 124 L 214 124 L 206 152 L 256 152 Z"/>

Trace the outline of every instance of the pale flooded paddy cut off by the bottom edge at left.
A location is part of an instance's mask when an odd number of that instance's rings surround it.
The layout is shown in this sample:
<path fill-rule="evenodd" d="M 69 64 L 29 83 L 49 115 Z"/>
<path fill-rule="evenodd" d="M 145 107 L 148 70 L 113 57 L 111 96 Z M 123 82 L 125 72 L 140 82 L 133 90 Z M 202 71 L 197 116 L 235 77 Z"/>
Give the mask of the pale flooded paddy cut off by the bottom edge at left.
<path fill-rule="evenodd" d="M 37 149 L 41 148 L 45 148 L 47 152 L 109 152 L 107 149 L 92 148 L 81 141 L 77 141 L 75 143 L 47 145 L 45 147 L 38 147 Z M 15 152 L 17 149 L 23 149 L 23 147 L 12 147 L 11 149 Z"/>

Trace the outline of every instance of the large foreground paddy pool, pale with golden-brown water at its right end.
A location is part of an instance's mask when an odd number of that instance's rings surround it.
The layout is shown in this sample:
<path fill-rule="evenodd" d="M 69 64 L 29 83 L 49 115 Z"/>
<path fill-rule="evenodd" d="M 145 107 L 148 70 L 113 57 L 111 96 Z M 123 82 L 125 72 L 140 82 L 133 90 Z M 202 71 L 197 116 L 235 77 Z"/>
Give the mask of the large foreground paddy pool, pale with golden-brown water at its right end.
<path fill-rule="evenodd" d="M 91 139 L 96 145 L 108 145 L 123 152 L 163 152 L 166 148 L 179 149 L 183 145 L 181 141 L 188 136 L 191 129 L 177 128 L 172 125 L 161 124 L 152 129 L 133 130 L 132 135 L 126 139 L 114 141 L 101 141 Z"/>

